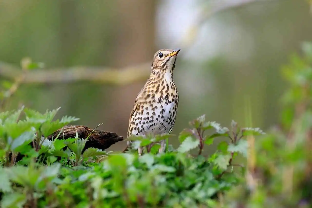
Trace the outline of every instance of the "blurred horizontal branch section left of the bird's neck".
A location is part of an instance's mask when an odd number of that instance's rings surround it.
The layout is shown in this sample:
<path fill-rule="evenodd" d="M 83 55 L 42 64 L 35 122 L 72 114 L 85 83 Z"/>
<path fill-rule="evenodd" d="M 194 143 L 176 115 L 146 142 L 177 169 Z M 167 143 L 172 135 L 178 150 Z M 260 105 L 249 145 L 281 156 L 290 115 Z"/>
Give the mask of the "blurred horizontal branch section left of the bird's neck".
<path fill-rule="evenodd" d="M 146 80 L 150 74 L 150 63 L 115 69 L 110 67 L 76 66 L 69 68 L 33 69 L 23 77 L 23 83 L 69 83 L 78 81 L 101 82 L 125 85 Z M 11 64 L 0 62 L 0 77 L 16 79 L 23 71 Z"/>

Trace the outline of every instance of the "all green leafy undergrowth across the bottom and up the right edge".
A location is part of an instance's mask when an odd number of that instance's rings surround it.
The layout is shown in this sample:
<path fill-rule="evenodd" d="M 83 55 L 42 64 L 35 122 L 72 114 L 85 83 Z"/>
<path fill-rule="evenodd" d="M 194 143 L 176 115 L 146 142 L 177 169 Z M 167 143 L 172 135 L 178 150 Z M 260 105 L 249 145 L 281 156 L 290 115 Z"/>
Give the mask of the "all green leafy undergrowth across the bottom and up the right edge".
<path fill-rule="evenodd" d="M 134 141 L 126 153 L 83 151 L 88 138 L 78 134 L 46 139 L 75 117 L 54 120 L 58 109 L 1 112 L 0 206 L 309 207 L 312 44 L 303 49 L 303 57 L 294 56 L 282 69 L 290 88 L 282 99 L 280 125 L 266 134 L 235 121 L 222 127 L 203 115 L 178 136 L 130 137 Z M 180 145 L 158 154 L 157 142 L 164 139 L 178 139 Z M 217 150 L 204 155 L 214 142 Z M 246 159 L 235 164 L 241 158 Z"/>

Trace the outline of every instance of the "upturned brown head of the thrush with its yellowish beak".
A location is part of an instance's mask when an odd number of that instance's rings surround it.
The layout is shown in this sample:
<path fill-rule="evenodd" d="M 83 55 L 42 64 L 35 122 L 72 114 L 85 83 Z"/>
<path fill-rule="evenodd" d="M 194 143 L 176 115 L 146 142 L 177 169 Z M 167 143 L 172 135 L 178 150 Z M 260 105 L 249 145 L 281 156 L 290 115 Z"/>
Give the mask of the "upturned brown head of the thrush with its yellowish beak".
<path fill-rule="evenodd" d="M 157 51 L 154 55 L 154 60 L 152 62 L 152 73 L 172 73 L 179 51 L 180 49 L 161 49 Z"/>

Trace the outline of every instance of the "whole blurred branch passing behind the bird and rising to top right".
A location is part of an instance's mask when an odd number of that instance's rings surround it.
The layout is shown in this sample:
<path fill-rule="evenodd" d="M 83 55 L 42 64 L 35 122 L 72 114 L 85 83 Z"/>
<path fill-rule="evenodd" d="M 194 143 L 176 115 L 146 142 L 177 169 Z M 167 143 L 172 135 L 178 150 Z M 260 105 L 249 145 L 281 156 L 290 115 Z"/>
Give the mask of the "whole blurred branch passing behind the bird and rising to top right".
<path fill-rule="evenodd" d="M 212 15 L 235 7 L 250 3 L 272 2 L 276 0 L 215 0 L 209 1 L 208 7 L 203 7 L 195 24 L 189 28 L 188 33 L 178 45 L 183 48 L 189 47 L 198 35 L 199 27 Z M 100 82 L 114 85 L 126 85 L 143 81 L 149 77 L 150 62 L 137 66 L 115 69 L 110 67 L 75 66 L 69 68 L 33 69 L 22 76 L 22 71 L 11 64 L 0 62 L 0 76 L 7 79 L 23 77 L 22 83 L 70 83 L 79 81 Z"/>

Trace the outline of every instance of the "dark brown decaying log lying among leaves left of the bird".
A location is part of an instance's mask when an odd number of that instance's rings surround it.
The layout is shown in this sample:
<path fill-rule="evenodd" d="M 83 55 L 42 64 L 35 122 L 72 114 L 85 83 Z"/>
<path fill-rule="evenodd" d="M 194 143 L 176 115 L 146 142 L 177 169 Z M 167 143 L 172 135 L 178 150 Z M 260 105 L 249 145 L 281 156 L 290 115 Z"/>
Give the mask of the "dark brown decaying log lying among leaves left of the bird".
<path fill-rule="evenodd" d="M 55 139 L 60 131 L 61 129 L 55 131 L 52 135 L 48 136 L 47 139 Z M 78 133 L 78 138 L 80 139 L 85 139 L 90 135 L 85 143 L 85 148 L 83 149 L 83 151 L 85 151 L 89 147 L 105 150 L 111 145 L 124 140 L 122 136 L 118 136 L 116 133 L 102 130 L 93 130 L 88 128 L 87 126 L 80 125 L 64 126 L 58 139 L 75 138 L 76 133 Z"/>

